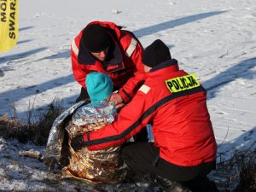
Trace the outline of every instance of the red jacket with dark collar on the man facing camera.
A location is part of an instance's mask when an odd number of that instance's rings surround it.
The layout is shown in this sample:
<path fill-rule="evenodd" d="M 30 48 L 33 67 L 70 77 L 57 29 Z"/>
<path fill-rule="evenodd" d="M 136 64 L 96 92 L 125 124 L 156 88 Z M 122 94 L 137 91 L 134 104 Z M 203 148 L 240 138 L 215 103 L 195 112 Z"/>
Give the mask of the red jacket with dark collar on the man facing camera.
<path fill-rule="evenodd" d="M 112 22 L 93 21 L 88 25 L 91 24 L 99 24 L 108 29 L 116 47 L 115 55 L 104 69 L 101 61 L 97 61 L 88 50 L 79 46 L 83 29 L 71 45 L 74 78 L 86 89 L 85 78 L 88 73 L 107 73 L 119 89 L 119 95 L 124 102 L 128 102 L 137 92 L 137 84 L 144 79 L 143 47 L 131 32 L 120 30 Z"/>

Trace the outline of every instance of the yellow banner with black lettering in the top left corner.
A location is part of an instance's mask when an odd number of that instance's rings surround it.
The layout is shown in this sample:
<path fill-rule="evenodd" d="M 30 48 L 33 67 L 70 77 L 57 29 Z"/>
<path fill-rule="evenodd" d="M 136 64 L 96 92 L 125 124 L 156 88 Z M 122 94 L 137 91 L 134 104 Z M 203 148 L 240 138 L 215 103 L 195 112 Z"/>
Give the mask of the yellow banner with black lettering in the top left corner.
<path fill-rule="evenodd" d="M 19 0 L 0 0 L 0 52 L 15 47 L 19 38 Z"/>

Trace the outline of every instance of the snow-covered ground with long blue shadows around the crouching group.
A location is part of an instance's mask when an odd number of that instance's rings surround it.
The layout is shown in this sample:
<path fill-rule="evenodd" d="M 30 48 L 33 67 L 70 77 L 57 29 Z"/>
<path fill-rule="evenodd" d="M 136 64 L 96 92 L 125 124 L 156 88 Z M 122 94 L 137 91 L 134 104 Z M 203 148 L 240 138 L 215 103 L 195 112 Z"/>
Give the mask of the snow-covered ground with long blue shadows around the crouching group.
<path fill-rule="evenodd" d="M 63 99 L 65 108 L 73 104 L 80 86 L 73 79 L 70 44 L 92 20 L 124 26 L 144 47 L 160 38 L 181 68 L 197 74 L 208 90 L 207 104 L 223 158 L 255 142 L 254 0 L 20 0 L 19 42 L 0 54 L 0 115 L 11 116 L 15 105 L 20 120 L 26 121 L 32 105 L 43 110 L 55 97 Z M 44 189 L 39 180 L 50 173 L 42 162 L 20 158 L 22 148 L 37 148 L 44 154 L 43 147 L 0 139 L 0 190 L 33 191 L 32 185 L 35 191 Z M 21 166 L 31 176 L 27 180 Z"/>

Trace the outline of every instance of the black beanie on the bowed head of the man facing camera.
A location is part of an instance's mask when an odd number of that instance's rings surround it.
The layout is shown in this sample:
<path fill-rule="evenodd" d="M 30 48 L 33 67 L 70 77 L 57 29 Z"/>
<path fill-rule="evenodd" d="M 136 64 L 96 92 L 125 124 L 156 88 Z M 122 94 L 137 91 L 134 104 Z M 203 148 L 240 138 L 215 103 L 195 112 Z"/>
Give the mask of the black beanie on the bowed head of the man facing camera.
<path fill-rule="evenodd" d="M 105 27 L 99 24 L 92 24 L 84 28 L 82 44 L 90 52 L 98 52 L 108 48 L 110 36 Z"/>

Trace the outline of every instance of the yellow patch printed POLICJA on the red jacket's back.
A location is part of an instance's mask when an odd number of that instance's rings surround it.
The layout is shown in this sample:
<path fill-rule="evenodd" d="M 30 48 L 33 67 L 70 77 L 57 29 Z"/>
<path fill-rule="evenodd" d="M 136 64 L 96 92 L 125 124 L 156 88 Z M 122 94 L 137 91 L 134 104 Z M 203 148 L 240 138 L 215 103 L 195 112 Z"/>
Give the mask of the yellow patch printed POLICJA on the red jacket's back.
<path fill-rule="evenodd" d="M 199 87 L 200 83 L 196 79 L 195 73 L 166 80 L 166 86 L 172 93 L 183 90 L 190 90 Z"/>

